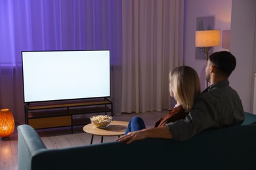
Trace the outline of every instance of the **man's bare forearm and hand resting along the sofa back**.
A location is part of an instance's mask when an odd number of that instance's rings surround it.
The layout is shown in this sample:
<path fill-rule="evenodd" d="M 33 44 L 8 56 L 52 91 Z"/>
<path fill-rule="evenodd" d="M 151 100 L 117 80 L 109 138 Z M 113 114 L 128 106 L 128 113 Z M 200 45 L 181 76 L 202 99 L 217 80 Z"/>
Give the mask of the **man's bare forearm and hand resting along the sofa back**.
<path fill-rule="evenodd" d="M 167 126 L 162 126 L 129 132 L 127 135 L 123 135 L 122 137 L 116 139 L 116 141 L 126 141 L 127 144 L 130 144 L 133 141 L 139 141 L 146 138 L 173 139 L 173 136 L 171 135 L 171 131 L 169 131 Z"/>

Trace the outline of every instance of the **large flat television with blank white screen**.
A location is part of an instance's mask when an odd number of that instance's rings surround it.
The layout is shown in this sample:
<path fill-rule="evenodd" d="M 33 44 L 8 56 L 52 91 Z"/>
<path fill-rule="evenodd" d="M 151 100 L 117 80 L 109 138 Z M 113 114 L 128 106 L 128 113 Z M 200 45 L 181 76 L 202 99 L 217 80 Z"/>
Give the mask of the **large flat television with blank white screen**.
<path fill-rule="evenodd" d="M 110 50 L 23 51 L 24 103 L 110 97 Z"/>

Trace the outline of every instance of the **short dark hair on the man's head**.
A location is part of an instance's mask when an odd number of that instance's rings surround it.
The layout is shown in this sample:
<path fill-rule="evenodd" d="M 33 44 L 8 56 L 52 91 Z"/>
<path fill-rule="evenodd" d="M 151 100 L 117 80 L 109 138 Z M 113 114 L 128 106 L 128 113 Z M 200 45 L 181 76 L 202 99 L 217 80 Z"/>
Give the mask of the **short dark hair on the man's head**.
<path fill-rule="evenodd" d="M 209 56 L 209 60 L 217 67 L 219 72 L 226 76 L 230 76 L 236 68 L 236 58 L 227 51 L 214 52 Z"/>

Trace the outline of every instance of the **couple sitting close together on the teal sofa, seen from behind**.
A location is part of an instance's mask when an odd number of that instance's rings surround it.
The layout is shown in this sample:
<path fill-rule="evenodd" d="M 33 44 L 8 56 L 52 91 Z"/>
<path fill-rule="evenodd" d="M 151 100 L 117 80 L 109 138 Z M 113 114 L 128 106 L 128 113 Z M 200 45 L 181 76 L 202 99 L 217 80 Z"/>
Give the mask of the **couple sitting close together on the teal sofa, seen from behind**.
<path fill-rule="evenodd" d="M 238 126 L 244 122 L 244 109 L 238 93 L 229 86 L 228 77 L 236 67 L 236 58 L 226 51 L 209 56 L 205 79 L 210 86 L 200 93 L 200 80 L 194 69 L 181 66 L 169 74 L 169 90 L 177 105 L 147 128 L 139 117 L 129 122 L 125 135 L 116 141 L 164 138 L 183 141 L 204 129 Z"/>

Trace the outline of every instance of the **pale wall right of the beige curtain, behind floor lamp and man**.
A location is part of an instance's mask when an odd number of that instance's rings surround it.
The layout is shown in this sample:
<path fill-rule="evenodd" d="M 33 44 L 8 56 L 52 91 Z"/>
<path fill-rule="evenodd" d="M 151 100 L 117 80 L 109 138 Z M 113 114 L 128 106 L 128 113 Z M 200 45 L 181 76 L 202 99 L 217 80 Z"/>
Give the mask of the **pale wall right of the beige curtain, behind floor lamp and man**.
<path fill-rule="evenodd" d="M 239 93 L 244 110 L 247 112 L 252 112 L 251 77 L 255 3 L 255 0 L 185 0 L 184 65 L 190 65 L 196 69 L 200 75 L 202 89 L 205 88 L 205 60 L 195 59 L 194 32 L 197 17 L 215 16 L 215 29 L 221 29 L 221 31 L 231 29 L 230 52 L 236 56 L 237 67 L 230 76 L 230 86 Z M 213 51 L 221 50 L 224 49 L 219 46 Z"/>

